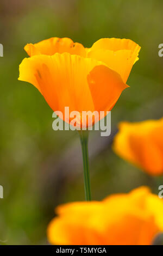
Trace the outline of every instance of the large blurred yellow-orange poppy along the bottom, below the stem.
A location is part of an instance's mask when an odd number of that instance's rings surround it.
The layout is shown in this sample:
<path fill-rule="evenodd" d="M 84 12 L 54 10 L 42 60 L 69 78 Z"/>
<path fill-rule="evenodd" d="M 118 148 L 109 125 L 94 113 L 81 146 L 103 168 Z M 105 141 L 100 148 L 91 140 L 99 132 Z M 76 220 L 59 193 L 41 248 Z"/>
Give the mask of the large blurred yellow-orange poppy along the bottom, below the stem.
<path fill-rule="evenodd" d="M 162 200 L 140 187 L 102 202 L 58 206 L 47 236 L 53 245 L 150 245 L 163 230 L 162 212 Z"/>

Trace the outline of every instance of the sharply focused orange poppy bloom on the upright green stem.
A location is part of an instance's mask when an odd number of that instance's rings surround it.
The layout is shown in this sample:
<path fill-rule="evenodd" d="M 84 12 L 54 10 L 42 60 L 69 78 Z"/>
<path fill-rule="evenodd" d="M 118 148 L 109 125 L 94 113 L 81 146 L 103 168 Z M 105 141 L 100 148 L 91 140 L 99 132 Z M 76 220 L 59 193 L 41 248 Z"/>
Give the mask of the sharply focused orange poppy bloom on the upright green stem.
<path fill-rule="evenodd" d="M 68 106 L 82 115 L 112 109 L 128 87 L 140 46 L 127 39 L 100 39 L 88 49 L 69 38 L 51 38 L 24 49 L 30 58 L 20 64 L 18 80 L 32 83 L 54 112 L 65 113 Z"/>

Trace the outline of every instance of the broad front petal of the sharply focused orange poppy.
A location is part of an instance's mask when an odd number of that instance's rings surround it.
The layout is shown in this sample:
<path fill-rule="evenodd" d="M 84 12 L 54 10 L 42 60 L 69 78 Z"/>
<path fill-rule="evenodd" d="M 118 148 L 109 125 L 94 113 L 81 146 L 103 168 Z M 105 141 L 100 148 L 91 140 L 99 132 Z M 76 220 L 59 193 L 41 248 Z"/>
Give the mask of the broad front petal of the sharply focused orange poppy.
<path fill-rule="evenodd" d="M 67 106 L 70 112 L 109 111 L 126 88 L 120 75 L 102 62 L 70 53 L 25 58 L 18 79 L 32 83 L 53 111 L 62 113 Z"/>

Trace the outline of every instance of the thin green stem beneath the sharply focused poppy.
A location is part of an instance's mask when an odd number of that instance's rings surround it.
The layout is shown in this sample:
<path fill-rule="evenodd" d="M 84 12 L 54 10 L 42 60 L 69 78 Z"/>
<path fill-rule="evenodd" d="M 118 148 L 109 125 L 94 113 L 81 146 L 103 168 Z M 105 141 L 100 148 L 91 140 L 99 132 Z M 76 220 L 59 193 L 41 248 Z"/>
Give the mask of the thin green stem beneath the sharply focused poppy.
<path fill-rule="evenodd" d="M 80 130 L 79 136 L 80 136 L 80 142 L 82 145 L 82 154 L 83 154 L 85 200 L 91 201 L 89 156 L 88 156 L 88 148 L 87 148 L 89 131 Z"/>

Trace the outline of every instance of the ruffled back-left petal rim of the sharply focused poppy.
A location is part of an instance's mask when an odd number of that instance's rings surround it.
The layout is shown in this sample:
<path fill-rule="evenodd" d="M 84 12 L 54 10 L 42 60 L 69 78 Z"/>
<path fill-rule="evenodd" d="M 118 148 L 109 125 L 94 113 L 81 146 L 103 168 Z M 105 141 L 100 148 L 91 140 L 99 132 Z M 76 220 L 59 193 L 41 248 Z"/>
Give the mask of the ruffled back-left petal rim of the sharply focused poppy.
<path fill-rule="evenodd" d="M 39 54 L 46 54 L 52 56 L 54 53 L 68 52 L 70 54 L 77 54 L 79 56 L 86 56 L 85 48 L 78 42 L 73 42 L 70 38 L 49 38 L 36 44 L 27 44 L 24 50 L 28 55 L 34 56 Z"/>

